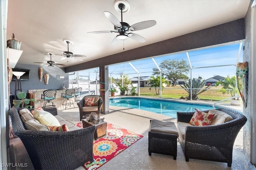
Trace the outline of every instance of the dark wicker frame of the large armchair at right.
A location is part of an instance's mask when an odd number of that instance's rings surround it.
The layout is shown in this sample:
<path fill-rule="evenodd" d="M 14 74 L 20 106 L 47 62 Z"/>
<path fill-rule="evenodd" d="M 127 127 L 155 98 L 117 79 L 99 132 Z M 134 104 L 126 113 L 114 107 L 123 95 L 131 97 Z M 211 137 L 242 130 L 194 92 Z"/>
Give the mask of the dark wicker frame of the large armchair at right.
<path fill-rule="evenodd" d="M 185 138 L 179 131 L 178 139 L 187 162 L 189 158 L 210 160 L 226 162 L 231 167 L 234 141 L 247 118 L 232 109 L 218 108 L 216 110 L 231 115 L 233 120 L 219 125 L 187 126 Z M 177 122 L 188 123 L 193 114 L 194 112 L 177 112 Z"/>

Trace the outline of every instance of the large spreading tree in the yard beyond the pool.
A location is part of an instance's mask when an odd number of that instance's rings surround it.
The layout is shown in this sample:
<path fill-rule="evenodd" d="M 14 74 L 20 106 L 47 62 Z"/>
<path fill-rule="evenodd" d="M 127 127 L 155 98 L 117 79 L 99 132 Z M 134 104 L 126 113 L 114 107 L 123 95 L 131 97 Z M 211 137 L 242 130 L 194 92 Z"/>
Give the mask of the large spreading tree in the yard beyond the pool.
<path fill-rule="evenodd" d="M 188 80 L 188 74 L 189 70 L 189 65 L 187 61 L 182 59 L 181 61 L 179 60 L 164 60 L 160 64 L 160 69 L 162 70 L 163 76 L 166 76 L 168 80 L 172 80 L 172 86 L 175 86 L 175 83 L 178 79 L 184 79 Z M 178 69 L 178 70 L 177 70 Z M 179 70 L 182 69 L 182 70 Z M 170 70 L 170 71 L 168 71 Z M 159 75 L 160 72 L 157 68 L 153 68 L 153 75 Z"/>

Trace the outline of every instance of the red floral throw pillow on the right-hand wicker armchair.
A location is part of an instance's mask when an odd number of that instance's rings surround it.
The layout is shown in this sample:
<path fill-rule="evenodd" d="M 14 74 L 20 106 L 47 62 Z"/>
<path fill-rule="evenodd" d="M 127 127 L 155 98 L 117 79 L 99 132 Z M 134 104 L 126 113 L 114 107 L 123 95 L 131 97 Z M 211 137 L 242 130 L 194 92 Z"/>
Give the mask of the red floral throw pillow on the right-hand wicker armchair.
<path fill-rule="evenodd" d="M 195 110 L 196 112 L 190 119 L 189 124 L 194 126 L 207 126 L 211 124 L 214 114 L 205 113 L 198 109 Z"/>

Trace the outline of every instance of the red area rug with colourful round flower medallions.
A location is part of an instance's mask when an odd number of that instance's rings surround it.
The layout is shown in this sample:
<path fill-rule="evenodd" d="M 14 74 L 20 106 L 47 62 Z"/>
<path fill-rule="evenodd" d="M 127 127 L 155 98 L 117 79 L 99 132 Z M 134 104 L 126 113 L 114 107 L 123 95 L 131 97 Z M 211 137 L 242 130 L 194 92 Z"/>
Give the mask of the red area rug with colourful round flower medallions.
<path fill-rule="evenodd" d="M 83 128 L 82 122 L 76 124 Z M 111 123 L 107 125 L 106 136 L 93 141 L 94 162 L 83 164 L 86 170 L 96 170 L 117 154 L 130 147 L 143 136 Z"/>

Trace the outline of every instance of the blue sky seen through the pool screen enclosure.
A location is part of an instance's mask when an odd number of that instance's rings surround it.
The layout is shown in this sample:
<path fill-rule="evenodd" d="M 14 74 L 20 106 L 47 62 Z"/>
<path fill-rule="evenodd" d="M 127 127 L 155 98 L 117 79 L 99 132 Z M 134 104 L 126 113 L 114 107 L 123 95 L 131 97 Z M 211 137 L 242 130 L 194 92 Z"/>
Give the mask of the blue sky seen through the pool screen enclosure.
<path fill-rule="evenodd" d="M 243 45 L 241 46 L 243 47 Z M 226 45 L 221 47 L 214 47 L 208 49 L 200 49 L 189 51 L 188 56 L 192 66 L 192 78 L 197 78 L 201 76 L 204 80 L 211 78 L 213 76 L 235 76 L 236 75 L 236 63 L 243 62 L 243 50 L 241 49 L 239 54 L 240 43 Z M 152 68 L 156 68 L 156 64 L 161 64 L 164 60 L 182 60 L 188 62 L 188 57 L 186 53 L 178 53 L 178 54 L 170 54 L 163 55 L 159 57 L 151 57 L 148 59 L 142 59 L 138 61 L 130 61 L 130 63 L 136 68 L 138 72 L 140 72 L 140 76 L 152 76 Z M 188 62 L 189 63 L 189 62 Z M 223 66 L 230 65 L 232 66 Z M 217 67 L 210 67 L 217 66 Z M 198 67 L 209 67 L 209 68 L 198 68 Z M 132 68 L 132 66 L 127 63 L 114 64 L 108 67 L 109 76 L 111 74 L 114 78 L 120 78 L 120 74 L 128 74 L 129 78 L 137 77 L 138 74 Z M 89 70 L 80 71 L 79 75 L 89 76 L 90 80 L 96 80 L 96 72 L 98 68 L 92 68 Z M 90 73 L 89 73 L 90 72 Z M 74 78 L 76 75 L 72 75 L 70 78 Z M 187 74 L 190 77 L 190 72 Z"/>

